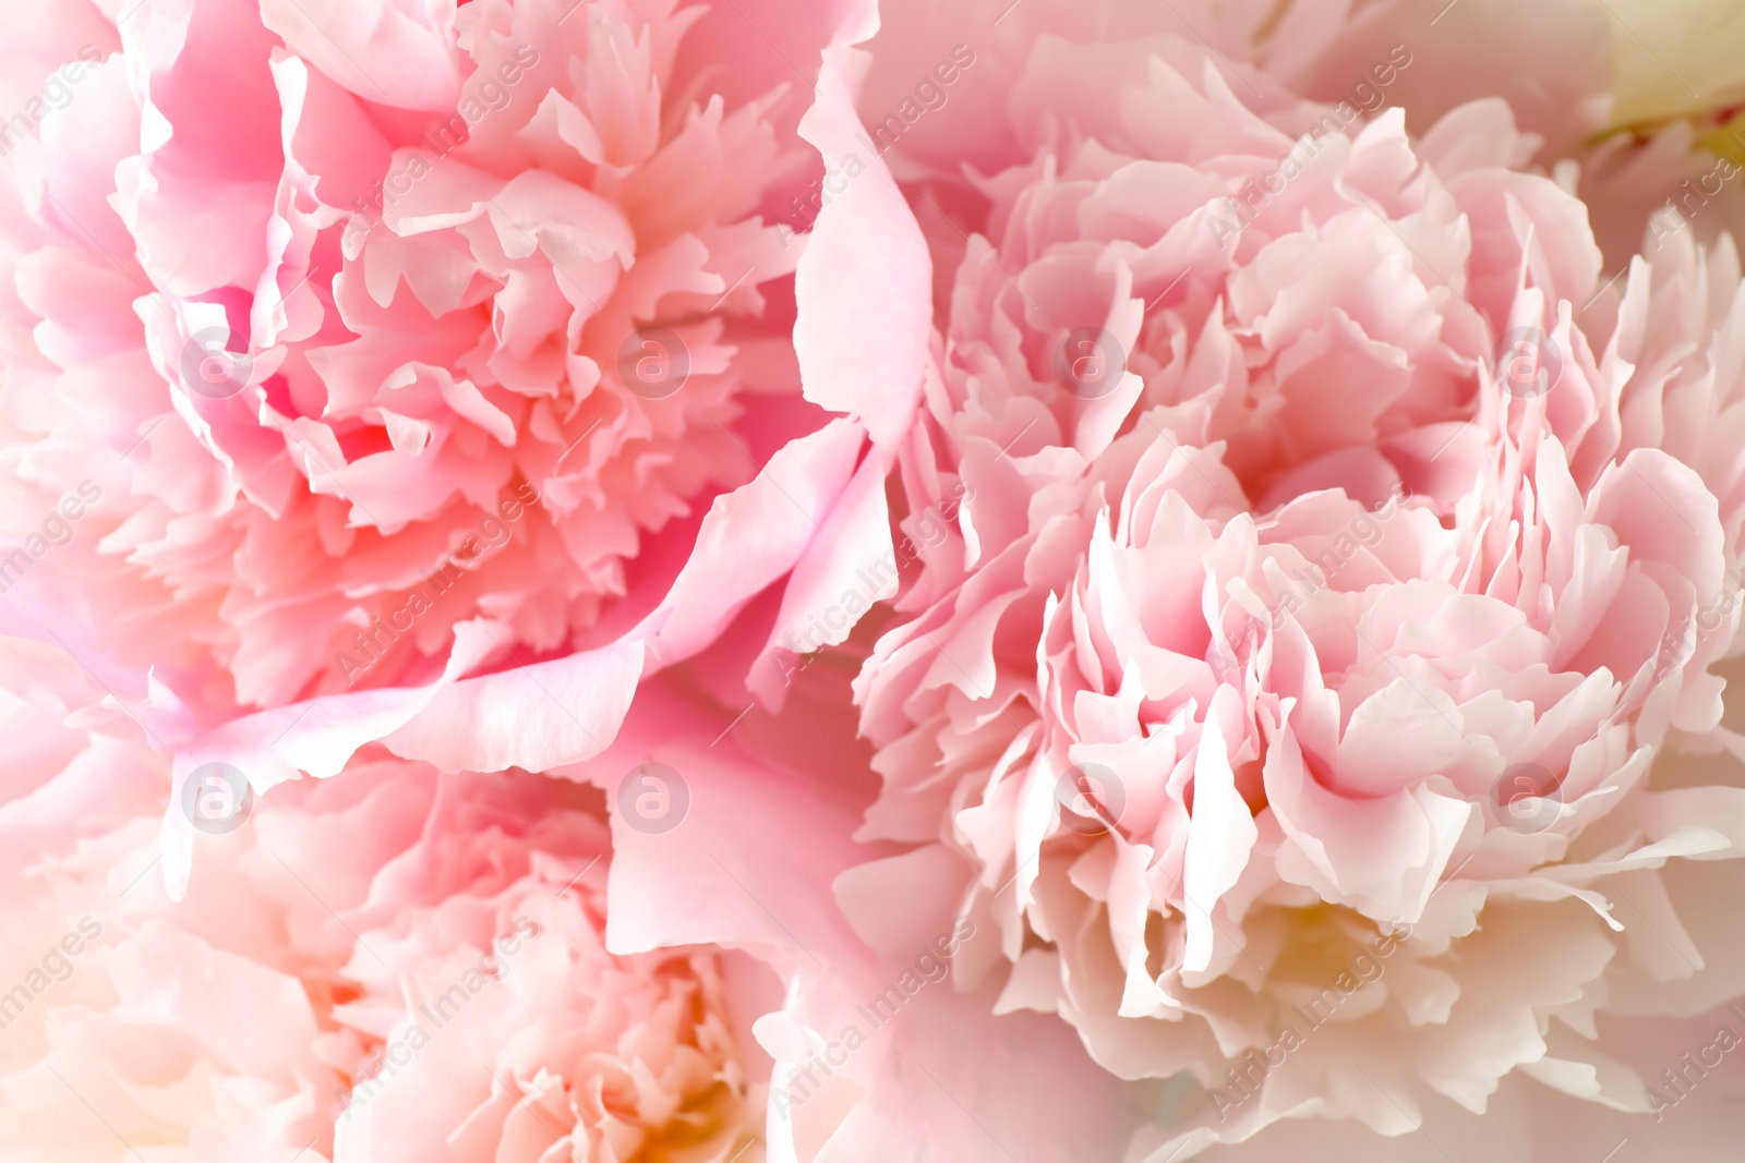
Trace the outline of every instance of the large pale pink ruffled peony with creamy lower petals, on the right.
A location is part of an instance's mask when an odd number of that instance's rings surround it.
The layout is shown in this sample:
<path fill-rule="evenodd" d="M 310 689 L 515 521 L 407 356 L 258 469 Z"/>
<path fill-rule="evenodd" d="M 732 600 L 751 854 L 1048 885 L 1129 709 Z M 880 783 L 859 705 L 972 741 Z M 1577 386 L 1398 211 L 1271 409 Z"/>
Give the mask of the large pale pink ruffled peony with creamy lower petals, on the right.
<path fill-rule="evenodd" d="M 1736 769 L 1653 767 L 1736 748 L 1733 244 L 1607 282 L 1504 101 L 1413 138 L 1026 19 L 955 120 L 876 139 L 949 284 L 920 567 L 855 684 L 860 839 L 907 851 L 857 872 L 862 924 L 927 886 L 998 933 L 965 987 L 1188 1088 L 1155 1160 L 1309 1114 L 1396 1137 L 1520 1074 L 1647 1112 L 1595 1015 L 1745 992 L 1680 924 L 1736 877 Z M 883 77 L 937 35 L 886 28 Z"/>

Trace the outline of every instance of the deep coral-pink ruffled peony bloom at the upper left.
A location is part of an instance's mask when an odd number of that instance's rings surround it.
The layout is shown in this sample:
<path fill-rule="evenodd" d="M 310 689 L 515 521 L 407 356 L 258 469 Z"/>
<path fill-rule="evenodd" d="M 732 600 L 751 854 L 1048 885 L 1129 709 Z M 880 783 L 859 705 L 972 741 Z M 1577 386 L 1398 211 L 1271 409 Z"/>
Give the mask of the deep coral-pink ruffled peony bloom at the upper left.
<path fill-rule="evenodd" d="M 827 10 L 77 7 L 9 17 L 70 96 L 0 211 L 5 582 L 195 704 L 576 649 L 827 418 L 766 207 Z"/>

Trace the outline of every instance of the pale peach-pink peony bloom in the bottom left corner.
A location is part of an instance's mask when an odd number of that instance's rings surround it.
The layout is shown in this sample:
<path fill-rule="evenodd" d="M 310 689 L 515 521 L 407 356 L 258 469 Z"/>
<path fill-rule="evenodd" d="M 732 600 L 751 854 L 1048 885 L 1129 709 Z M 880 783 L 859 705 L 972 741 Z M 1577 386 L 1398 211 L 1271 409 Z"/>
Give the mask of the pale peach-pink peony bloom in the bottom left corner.
<path fill-rule="evenodd" d="M 592 788 L 366 757 L 195 804 L 202 860 L 171 903 L 168 762 L 66 656 L 0 656 L 31 745 L 0 804 L 28 851 L 0 870 L 9 1158 L 763 1158 L 768 971 L 606 950 Z"/>

